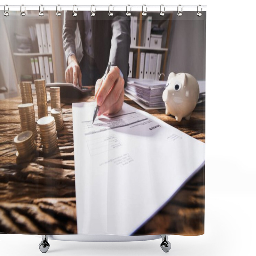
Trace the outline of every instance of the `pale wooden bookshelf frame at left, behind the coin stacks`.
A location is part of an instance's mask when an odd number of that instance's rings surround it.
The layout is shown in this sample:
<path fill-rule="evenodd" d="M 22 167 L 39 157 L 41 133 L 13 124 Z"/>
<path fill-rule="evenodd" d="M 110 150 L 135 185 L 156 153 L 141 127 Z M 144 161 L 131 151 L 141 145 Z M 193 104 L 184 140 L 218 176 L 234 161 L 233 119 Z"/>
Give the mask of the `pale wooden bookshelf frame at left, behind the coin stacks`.
<path fill-rule="evenodd" d="M 26 16 L 21 17 L 20 12 L 12 12 L 12 15 L 8 17 L 4 17 L 1 19 L 2 26 L 6 33 L 6 38 L 8 38 L 8 45 L 10 48 L 13 66 L 14 68 L 10 72 L 12 76 L 15 76 L 16 81 L 16 95 L 19 95 L 19 86 L 18 82 L 21 81 L 21 77 L 25 79 L 29 78 L 31 75 L 33 77 L 31 58 L 35 58 L 34 60 L 38 60 L 39 57 L 46 57 L 49 64 L 52 63 L 52 75 L 51 82 L 65 82 L 65 61 L 64 61 L 64 51 L 63 48 L 60 47 L 62 45 L 62 24 L 63 18 L 54 17 L 56 16 L 56 12 L 47 12 L 44 11 L 44 16 L 40 17 L 38 15 L 38 11 L 26 11 Z M 53 16 L 53 18 L 52 18 Z M 56 18 L 59 20 L 57 21 Z M 51 52 L 39 52 L 38 49 L 38 37 L 35 38 L 34 41 L 31 41 L 30 52 L 19 52 L 19 44 L 17 40 L 17 35 L 31 38 L 30 27 L 35 28 L 36 24 L 47 24 L 49 23 L 50 27 L 50 37 L 51 37 Z M 60 31 L 60 32 L 59 32 Z M 57 61 L 56 61 L 57 60 Z M 45 59 L 46 61 L 46 59 Z M 40 65 L 39 61 L 38 64 Z M 36 67 L 35 67 L 36 68 Z M 41 68 L 40 68 L 41 71 Z M 40 72 L 39 71 L 39 72 Z M 38 76 L 34 76 L 34 79 L 41 79 L 41 72 Z"/>

